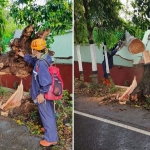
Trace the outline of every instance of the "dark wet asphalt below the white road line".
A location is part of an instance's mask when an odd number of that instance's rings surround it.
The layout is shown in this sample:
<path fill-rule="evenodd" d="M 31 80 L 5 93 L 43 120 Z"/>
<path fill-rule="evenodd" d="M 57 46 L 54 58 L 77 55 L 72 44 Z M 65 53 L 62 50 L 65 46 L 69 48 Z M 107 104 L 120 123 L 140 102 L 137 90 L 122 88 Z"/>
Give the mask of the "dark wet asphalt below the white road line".
<path fill-rule="evenodd" d="M 150 150 L 150 136 L 74 115 L 74 150 Z"/>

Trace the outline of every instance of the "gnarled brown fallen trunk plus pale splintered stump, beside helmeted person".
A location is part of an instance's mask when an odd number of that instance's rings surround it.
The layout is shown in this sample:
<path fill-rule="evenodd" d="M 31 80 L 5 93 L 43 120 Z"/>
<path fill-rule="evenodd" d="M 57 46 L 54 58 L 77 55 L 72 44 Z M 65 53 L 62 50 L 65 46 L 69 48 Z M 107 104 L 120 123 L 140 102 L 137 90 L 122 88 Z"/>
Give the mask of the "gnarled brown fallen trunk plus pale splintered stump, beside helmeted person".
<path fill-rule="evenodd" d="M 25 27 L 22 31 L 20 38 L 13 39 L 10 43 L 10 51 L 7 53 L 0 54 L 0 75 L 12 74 L 18 76 L 19 78 L 25 78 L 31 75 L 33 66 L 24 61 L 23 57 L 18 55 L 19 51 L 22 51 L 24 54 L 32 54 L 31 42 L 34 39 L 46 39 L 47 35 L 50 33 L 50 29 L 37 32 L 35 34 L 33 25 Z M 53 56 L 54 52 L 50 51 L 47 48 L 49 55 Z M 13 108 L 18 108 L 21 105 L 21 108 L 26 108 L 22 106 L 22 102 L 29 103 L 29 101 L 22 101 L 23 99 L 23 85 L 22 81 L 18 86 L 17 90 L 11 93 L 8 100 L 0 101 L 0 109 L 2 111 L 9 111 Z M 33 105 L 33 102 L 32 102 Z M 30 106 L 29 106 L 30 108 Z"/>

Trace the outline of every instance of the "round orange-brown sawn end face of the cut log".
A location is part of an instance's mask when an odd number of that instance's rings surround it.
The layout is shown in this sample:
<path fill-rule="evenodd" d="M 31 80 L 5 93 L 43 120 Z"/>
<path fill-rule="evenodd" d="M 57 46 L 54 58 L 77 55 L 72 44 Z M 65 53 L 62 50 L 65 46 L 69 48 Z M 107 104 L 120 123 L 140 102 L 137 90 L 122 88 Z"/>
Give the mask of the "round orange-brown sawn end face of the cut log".
<path fill-rule="evenodd" d="M 128 50 L 131 54 L 138 54 L 145 50 L 145 45 L 139 39 L 133 38 L 128 44 Z"/>

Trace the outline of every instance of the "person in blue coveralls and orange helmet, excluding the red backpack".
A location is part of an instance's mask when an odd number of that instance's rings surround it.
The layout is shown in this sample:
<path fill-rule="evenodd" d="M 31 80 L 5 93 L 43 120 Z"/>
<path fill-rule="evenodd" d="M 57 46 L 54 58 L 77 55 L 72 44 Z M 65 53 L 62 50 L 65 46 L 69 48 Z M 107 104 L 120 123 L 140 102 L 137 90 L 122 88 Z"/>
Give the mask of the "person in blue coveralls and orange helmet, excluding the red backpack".
<path fill-rule="evenodd" d="M 34 103 L 38 106 L 44 127 L 44 140 L 41 140 L 40 144 L 42 146 L 51 146 L 57 144 L 58 134 L 53 103 L 50 100 L 46 100 L 44 94 L 49 90 L 52 83 L 52 77 L 48 72 L 47 64 L 40 58 L 44 58 L 49 64 L 52 63 L 52 59 L 46 50 L 45 40 L 33 40 L 31 43 L 31 48 L 32 55 L 24 55 L 21 51 L 18 52 L 18 54 L 24 57 L 24 60 L 34 67 L 30 93 Z"/>

